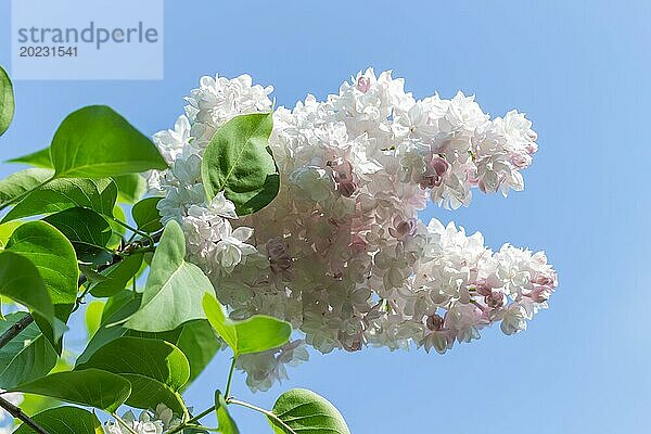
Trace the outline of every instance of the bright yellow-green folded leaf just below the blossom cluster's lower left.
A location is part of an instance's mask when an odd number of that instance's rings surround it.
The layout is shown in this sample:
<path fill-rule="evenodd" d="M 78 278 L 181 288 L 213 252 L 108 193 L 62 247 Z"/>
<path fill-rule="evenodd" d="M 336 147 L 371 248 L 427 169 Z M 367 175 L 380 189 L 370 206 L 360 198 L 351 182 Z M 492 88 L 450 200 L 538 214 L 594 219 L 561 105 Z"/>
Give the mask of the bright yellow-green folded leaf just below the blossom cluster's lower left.
<path fill-rule="evenodd" d="M 210 294 L 204 295 L 203 307 L 213 328 L 232 348 L 241 354 L 261 353 L 277 348 L 290 340 L 292 327 L 273 317 L 255 315 L 244 321 L 227 318 L 224 307 Z"/>

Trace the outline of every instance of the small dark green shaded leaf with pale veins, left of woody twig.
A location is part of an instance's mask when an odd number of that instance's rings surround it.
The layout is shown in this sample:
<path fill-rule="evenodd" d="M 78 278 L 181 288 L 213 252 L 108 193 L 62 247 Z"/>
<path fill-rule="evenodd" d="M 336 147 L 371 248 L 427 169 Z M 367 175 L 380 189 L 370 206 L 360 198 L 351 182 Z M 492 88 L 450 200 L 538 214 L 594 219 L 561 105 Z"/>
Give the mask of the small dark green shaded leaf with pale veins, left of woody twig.
<path fill-rule="evenodd" d="M 113 234 L 108 221 L 87 208 L 62 210 L 43 218 L 43 221 L 59 229 L 69 240 L 79 260 L 105 251 Z"/>

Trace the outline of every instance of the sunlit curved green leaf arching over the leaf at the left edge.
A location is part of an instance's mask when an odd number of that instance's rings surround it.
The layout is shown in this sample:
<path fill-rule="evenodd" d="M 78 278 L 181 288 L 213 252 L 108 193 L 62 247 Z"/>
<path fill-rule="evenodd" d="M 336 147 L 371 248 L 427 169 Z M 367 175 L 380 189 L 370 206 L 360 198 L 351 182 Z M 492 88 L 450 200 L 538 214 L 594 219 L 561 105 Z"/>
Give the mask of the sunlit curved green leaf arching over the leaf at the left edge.
<path fill-rule="evenodd" d="M 26 222 L 14 230 L 5 251 L 31 260 L 53 304 L 75 303 L 79 280 L 77 257 L 71 242 L 56 228 L 44 221 Z"/>

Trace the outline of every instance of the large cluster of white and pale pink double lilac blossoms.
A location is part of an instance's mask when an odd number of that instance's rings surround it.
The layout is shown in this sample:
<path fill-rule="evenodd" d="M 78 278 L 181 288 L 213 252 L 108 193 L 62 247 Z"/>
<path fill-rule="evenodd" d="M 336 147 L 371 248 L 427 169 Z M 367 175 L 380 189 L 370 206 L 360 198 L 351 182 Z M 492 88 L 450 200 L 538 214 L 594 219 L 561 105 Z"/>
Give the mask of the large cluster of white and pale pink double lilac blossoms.
<path fill-rule="evenodd" d="M 202 155 L 233 116 L 270 111 L 271 90 L 248 76 L 204 77 L 175 129 L 154 136 L 170 164 L 150 178 L 163 220 L 182 225 L 190 260 L 231 317 L 284 319 L 322 353 L 410 344 L 444 353 L 494 322 L 506 334 L 524 330 L 547 307 L 557 277 L 544 253 L 492 252 L 481 233 L 418 217 L 429 200 L 457 208 L 475 189 L 522 190 L 537 151 L 523 114 L 492 119 L 462 93 L 416 100 L 403 79 L 368 69 L 326 101 L 308 95 L 273 113 L 280 193 L 238 219 L 224 195 L 205 197 Z M 239 360 L 248 385 L 283 378 L 282 363 L 306 358 L 298 345 Z"/>

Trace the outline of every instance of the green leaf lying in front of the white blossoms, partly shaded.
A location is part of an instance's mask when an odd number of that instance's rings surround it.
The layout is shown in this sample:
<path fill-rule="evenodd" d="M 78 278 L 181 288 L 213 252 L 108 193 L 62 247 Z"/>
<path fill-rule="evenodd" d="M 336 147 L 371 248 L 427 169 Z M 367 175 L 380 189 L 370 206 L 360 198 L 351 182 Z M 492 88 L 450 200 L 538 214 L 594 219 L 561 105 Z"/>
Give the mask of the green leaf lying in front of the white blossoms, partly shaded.
<path fill-rule="evenodd" d="M 278 195 L 280 176 L 268 144 L 272 127 L 271 113 L 255 113 L 237 116 L 215 132 L 201 165 L 208 199 L 224 190 L 243 216 Z"/>

